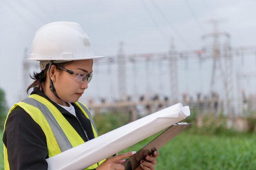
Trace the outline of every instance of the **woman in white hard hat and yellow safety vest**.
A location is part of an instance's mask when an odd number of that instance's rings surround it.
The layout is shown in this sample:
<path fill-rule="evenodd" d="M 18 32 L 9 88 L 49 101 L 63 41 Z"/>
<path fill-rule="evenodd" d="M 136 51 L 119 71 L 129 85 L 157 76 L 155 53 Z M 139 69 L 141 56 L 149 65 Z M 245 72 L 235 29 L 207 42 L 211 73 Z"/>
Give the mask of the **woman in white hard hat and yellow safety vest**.
<path fill-rule="evenodd" d="M 92 78 L 94 56 L 89 37 L 74 22 L 53 22 L 35 35 L 30 59 L 40 61 L 29 98 L 15 104 L 4 125 L 6 170 L 47 170 L 47 159 L 98 136 L 87 107 L 77 102 Z M 134 152 L 100 161 L 88 170 L 124 170 L 123 159 Z M 154 170 L 146 156 L 136 170 Z"/>

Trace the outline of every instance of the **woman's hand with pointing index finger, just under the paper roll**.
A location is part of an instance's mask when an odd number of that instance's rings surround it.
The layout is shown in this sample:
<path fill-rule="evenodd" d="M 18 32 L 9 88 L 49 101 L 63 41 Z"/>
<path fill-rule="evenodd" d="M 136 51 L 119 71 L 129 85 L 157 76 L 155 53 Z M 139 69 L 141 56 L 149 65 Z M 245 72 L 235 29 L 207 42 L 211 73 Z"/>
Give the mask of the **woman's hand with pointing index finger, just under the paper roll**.
<path fill-rule="evenodd" d="M 103 163 L 101 163 L 100 166 L 96 168 L 96 170 L 124 170 L 124 166 L 121 165 L 125 160 L 125 158 L 131 157 L 136 152 L 128 152 L 128 153 L 122 153 L 120 155 L 117 155 L 115 157 L 110 157 L 106 159 Z"/>

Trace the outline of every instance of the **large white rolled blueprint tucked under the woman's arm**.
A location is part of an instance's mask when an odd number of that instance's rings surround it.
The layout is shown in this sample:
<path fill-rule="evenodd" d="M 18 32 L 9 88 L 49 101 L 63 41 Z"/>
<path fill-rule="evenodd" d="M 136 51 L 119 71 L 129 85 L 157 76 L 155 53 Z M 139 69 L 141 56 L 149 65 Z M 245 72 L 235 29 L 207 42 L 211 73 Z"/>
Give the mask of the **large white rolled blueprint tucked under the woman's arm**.
<path fill-rule="evenodd" d="M 190 115 L 181 103 L 121 126 L 46 159 L 48 170 L 82 170 L 180 122 Z"/>

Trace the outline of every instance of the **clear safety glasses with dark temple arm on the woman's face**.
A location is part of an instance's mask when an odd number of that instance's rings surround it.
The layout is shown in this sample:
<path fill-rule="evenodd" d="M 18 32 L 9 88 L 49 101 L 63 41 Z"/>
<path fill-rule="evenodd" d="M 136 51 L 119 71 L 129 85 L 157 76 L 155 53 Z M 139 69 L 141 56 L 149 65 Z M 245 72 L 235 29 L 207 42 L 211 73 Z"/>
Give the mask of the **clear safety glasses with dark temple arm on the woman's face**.
<path fill-rule="evenodd" d="M 72 79 L 74 79 L 75 81 L 77 81 L 79 83 L 84 83 L 85 81 L 87 81 L 89 83 L 92 80 L 92 73 L 89 74 L 89 73 L 83 72 L 82 70 L 67 70 L 67 69 L 59 67 L 57 65 L 56 65 L 56 67 L 68 72 L 70 74 L 70 76 L 72 77 Z"/>

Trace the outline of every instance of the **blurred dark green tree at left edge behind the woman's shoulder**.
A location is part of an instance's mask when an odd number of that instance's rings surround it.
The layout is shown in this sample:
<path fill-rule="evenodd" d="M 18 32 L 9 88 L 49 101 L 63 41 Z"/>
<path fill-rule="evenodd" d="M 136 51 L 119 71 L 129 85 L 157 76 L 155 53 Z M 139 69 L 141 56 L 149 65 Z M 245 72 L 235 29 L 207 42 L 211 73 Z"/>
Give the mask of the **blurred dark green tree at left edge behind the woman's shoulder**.
<path fill-rule="evenodd" d="M 0 128 L 4 127 L 4 121 L 7 116 L 7 102 L 5 100 L 4 90 L 0 88 Z"/>

